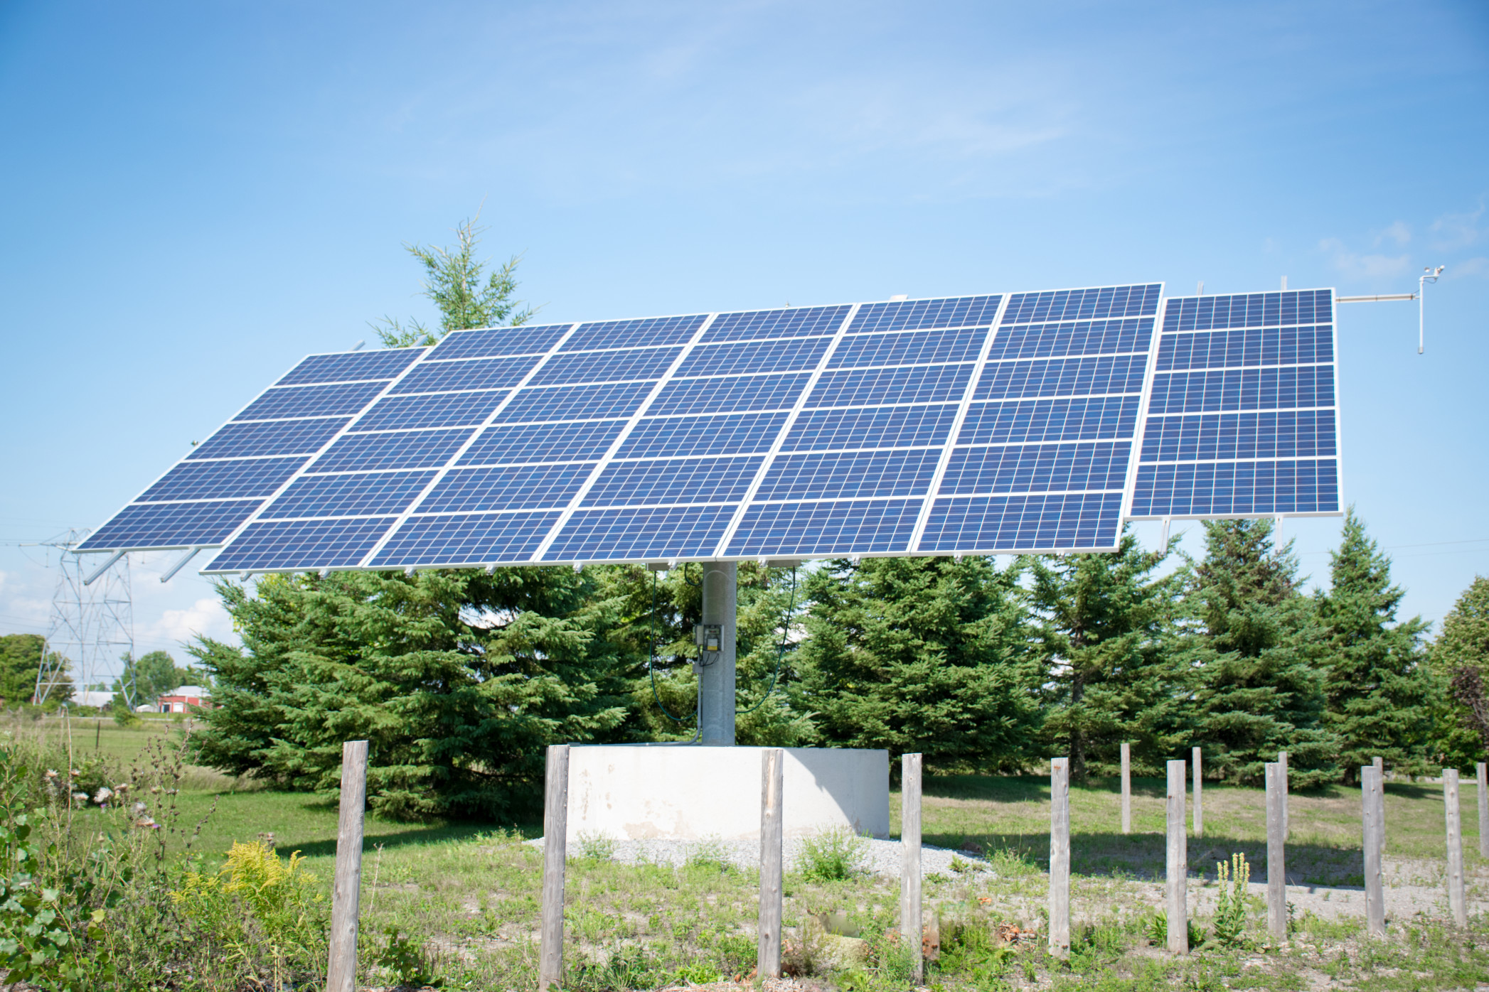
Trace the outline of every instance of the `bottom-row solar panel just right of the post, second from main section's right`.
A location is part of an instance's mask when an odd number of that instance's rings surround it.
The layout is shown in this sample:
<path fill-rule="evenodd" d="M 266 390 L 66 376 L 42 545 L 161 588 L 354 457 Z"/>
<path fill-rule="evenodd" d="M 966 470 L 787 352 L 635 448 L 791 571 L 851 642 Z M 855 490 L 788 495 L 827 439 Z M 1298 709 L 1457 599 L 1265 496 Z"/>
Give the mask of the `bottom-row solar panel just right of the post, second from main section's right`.
<path fill-rule="evenodd" d="M 730 555 L 871 555 L 905 552 L 923 500 L 753 503 Z"/>

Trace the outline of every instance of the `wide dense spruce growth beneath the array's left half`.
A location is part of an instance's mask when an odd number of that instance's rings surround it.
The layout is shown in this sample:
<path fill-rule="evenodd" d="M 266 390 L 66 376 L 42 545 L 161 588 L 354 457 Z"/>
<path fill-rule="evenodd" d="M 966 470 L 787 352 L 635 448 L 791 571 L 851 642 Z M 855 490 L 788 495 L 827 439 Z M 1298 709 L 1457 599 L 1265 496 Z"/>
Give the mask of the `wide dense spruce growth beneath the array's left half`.
<path fill-rule="evenodd" d="M 366 739 L 368 805 L 395 817 L 515 817 L 548 744 L 606 739 L 624 681 L 615 602 L 570 570 L 268 576 L 219 583 L 243 638 L 192 653 L 214 675 L 197 760 L 335 794 Z"/>

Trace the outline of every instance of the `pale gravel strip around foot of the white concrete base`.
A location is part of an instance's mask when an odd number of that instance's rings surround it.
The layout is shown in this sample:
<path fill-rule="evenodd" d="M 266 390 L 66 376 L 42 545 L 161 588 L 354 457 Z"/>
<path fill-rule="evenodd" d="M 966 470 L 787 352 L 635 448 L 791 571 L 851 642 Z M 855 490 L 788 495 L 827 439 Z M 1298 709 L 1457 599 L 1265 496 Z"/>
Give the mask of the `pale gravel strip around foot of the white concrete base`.
<path fill-rule="evenodd" d="M 542 846 L 543 839 L 529 840 L 533 846 Z M 783 842 L 782 855 L 786 870 L 794 872 L 801 860 L 801 849 L 806 840 L 788 837 Z M 759 840 L 600 840 L 590 843 L 569 845 L 569 857 L 593 857 L 600 851 L 609 851 L 609 860 L 619 864 L 670 864 L 680 867 L 688 858 L 724 861 L 740 869 L 759 867 Z M 864 851 L 859 858 L 859 869 L 871 875 L 899 877 L 901 858 L 904 857 L 898 840 L 864 839 Z M 975 872 L 989 872 L 986 861 L 966 851 L 950 851 L 947 848 L 920 846 L 920 875 L 951 876 L 951 858 L 966 863 Z M 965 872 L 966 869 L 963 869 Z M 995 876 L 996 877 L 996 876 Z"/>

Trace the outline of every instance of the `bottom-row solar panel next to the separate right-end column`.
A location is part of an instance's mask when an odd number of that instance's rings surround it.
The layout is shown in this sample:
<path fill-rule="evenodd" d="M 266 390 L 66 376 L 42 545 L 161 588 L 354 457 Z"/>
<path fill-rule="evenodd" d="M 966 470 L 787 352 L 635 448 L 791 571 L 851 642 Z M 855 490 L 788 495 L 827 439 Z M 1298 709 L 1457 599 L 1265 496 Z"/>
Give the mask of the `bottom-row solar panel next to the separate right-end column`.
<path fill-rule="evenodd" d="M 1105 550 L 1121 531 L 1120 492 L 956 497 L 935 501 L 922 552 Z"/>

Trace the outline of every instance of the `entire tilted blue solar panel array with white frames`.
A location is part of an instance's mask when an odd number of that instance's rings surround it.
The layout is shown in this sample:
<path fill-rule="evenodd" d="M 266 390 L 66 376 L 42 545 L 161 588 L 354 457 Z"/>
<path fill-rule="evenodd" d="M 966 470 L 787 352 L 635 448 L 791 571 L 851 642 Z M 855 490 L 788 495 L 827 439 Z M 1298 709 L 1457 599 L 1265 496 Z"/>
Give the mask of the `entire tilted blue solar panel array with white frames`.
<path fill-rule="evenodd" d="M 1074 552 L 1115 546 L 1133 485 L 1129 516 L 1337 510 L 1331 294 L 1169 300 L 1154 350 L 1160 297 L 311 355 L 82 550 L 222 546 L 208 573 Z"/>

